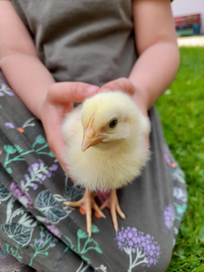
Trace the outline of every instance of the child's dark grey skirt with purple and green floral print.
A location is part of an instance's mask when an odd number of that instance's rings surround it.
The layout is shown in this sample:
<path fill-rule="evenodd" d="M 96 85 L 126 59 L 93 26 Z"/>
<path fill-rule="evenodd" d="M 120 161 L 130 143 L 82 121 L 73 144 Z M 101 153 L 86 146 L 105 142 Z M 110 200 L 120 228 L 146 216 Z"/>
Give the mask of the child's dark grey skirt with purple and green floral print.
<path fill-rule="evenodd" d="M 118 218 L 115 233 L 104 210 L 106 219 L 93 216 L 89 237 L 85 217 L 63 205 L 81 199 L 83 189 L 60 168 L 40 121 L 0 79 L 2 252 L 40 272 L 165 271 L 187 193 L 155 109 L 149 112 L 151 159 L 141 176 L 118 190 L 126 219 Z"/>

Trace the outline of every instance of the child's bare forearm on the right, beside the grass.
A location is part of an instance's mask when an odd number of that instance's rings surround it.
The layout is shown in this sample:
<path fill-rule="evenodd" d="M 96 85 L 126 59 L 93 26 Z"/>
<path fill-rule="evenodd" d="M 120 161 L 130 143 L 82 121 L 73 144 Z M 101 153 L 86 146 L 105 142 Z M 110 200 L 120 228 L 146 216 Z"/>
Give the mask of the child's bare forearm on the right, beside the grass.
<path fill-rule="evenodd" d="M 179 50 L 174 43 L 159 42 L 147 48 L 133 66 L 129 79 L 150 108 L 174 79 Z"/>

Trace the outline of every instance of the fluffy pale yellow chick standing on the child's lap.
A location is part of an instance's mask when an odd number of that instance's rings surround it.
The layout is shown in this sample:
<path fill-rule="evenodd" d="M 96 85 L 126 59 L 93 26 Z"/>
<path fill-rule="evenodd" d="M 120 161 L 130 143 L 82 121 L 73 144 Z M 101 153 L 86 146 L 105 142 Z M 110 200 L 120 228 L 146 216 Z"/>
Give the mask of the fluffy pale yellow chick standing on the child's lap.
<path fill-rule="evenodd" d="M 92 209 L 105 218 L 102 209 L 108 206 L 115 231 L 116 212 L 125 219 L 116 189 L 141 173 L 149 158 L 146 141 L 149 132 L 149 119 L 122 91 L 99 93 L 66 115 L 62 134 L 67 144 L 67 170 L 76 185 L 85 188 L 85 193 L 81 200 L 65 203 L 86 211 L 89 236 Z M 96 190 L 110 190 L 100 208 L 94 200 Z"/>

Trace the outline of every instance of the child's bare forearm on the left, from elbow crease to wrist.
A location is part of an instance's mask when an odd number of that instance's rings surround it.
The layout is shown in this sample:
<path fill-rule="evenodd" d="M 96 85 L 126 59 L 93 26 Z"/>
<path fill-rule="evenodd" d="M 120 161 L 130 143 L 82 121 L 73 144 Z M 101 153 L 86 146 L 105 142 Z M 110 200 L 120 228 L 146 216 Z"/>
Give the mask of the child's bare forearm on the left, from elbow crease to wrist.
<path fill-rule="evenodd" d="M 0 60 L 0 69 L 9 85 L 30 111 L 40 117 L 48 87 L 54 79 L 37 56 L 13 52 Z"/>

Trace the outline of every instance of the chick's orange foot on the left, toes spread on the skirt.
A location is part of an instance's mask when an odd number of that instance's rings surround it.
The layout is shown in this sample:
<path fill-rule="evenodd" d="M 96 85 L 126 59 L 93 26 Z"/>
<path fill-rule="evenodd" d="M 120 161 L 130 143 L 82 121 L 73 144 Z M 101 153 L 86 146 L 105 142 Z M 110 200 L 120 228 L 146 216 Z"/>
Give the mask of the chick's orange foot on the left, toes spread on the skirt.
<path fill-rule="evenodd" d="M 91 193 L 88 189 L 85 189 L 83 198 L 76 202 L 64 202 L 67 206 L 72 207 L 79 207 L 79 211 L 81 214 L 86 214 L 86 229 L 89 234 L 89 237 L 91 236 L 91 217 L 92 217 L 92 209 L 95 210 L 95 213 L 97 213 L 100 217 L 106 218 L 104 213 L 99 209 L 99 206 L 96 204 L 94 197 L 96 196 L 95 193 Z"/>

